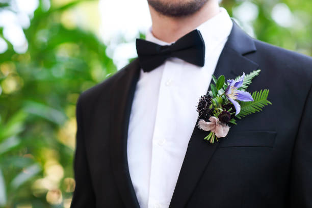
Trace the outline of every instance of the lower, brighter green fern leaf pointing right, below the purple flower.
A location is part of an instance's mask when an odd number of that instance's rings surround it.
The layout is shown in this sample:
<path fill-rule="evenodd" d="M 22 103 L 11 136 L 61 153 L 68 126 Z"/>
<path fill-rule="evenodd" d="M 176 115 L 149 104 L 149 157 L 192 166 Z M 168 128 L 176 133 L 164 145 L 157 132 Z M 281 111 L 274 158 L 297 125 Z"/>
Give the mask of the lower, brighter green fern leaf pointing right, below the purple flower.
<path fill-rule="evenodd" d="M 269 100 L 267 100 L 268 95 L 269 95 L 268 89 L 260 90 L 259 92 L 254 91 L 251 95 L 253 101 L 240 102 L 241 111 L 236 117 L 241 119 L 242 117 L 245 117 L 251 113 L 262 111 L 262 108 L 267 106 L 268 104 L 272 105 L 272 103 Z"/>

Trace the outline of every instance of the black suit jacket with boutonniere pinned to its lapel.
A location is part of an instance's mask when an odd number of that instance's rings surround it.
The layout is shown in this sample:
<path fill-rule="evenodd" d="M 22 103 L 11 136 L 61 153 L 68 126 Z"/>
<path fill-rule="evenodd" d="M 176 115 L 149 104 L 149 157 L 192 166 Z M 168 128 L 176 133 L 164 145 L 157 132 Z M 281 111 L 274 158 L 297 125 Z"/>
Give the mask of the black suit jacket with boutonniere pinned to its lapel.
<path fill-rule="evenodd" d="M 248 91 L 270 89 L 273 105 L 238 120 L 215 144 L 194 123 L 170 207 L 312 207 L 311 68 L 311 58 L 233 24 L 214 74 L 261 69 Z M 136 59 L 80 96 L 71 207 L 139 207 L 126 154 L 139 72 Z"/>

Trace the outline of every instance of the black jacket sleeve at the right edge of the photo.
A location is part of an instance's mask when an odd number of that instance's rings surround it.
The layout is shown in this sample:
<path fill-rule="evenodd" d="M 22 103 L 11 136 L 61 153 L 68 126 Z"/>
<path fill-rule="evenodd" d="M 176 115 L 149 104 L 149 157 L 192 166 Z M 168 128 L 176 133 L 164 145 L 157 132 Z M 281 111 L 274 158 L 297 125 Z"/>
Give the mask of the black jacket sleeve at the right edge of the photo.
<path fill-rule="evenodd" d="M 312 207 L 312 90 L 304 105 L 294 144 L 290 202 L 291 207 Z"/>

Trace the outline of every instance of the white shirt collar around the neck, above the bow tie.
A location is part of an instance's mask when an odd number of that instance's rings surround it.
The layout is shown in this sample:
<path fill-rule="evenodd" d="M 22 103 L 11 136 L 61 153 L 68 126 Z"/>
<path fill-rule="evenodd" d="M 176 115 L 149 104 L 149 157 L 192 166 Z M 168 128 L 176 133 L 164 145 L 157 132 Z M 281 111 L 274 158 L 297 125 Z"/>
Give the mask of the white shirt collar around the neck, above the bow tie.
<path fill-rule="evenodd" d="M 218 46 L 223 40 L 227 39 L 232 29 L 233 22 L 227 11 L 220 7 L 220 12 L 209 20 L 200 24 L 196 29 L 200 31 L 205 42 L 205 58 Z M 195 30 L 195 29 L 194 29 Z M 151 27 L 147 30 L 145 40 L 157 43 L 159 45 L 170 45 L 151 33 Z"/>

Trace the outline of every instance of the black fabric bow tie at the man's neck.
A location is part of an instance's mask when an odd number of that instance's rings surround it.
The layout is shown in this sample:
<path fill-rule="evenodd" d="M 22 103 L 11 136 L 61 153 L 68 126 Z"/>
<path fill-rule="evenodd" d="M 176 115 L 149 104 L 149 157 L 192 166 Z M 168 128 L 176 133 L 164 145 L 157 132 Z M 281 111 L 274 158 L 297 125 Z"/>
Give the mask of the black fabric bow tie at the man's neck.
<path fill-rule="evenodd" d="M 139 63 L 145 72 L 157 68 L 169 57 L 204 65 L 205 44 L 198 30 L 193 30 L 171 45 L 161 46 L 142 39 L 137 39 L 136 45 Z"/>

